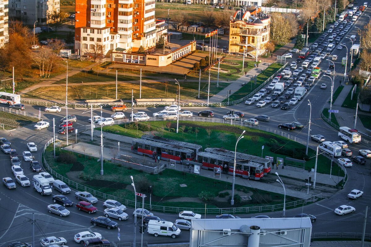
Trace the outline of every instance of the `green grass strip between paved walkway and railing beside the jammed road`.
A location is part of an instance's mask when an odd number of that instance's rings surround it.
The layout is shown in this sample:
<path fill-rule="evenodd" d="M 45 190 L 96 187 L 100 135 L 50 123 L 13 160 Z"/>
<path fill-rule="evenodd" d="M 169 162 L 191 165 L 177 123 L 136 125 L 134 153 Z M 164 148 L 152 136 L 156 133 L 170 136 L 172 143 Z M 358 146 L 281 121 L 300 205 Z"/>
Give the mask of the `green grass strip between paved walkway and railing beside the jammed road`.
<path fill-rule="evenodd" d="M 266 81 L 270 76 L 272 76 L 276 71 L 278 71 L 282 67 L 282 64 L 273 63 L 267 69 L 265 69 L 262 73 L 257 76 L 256 84 L 253 83 L 254 80 L 250 80 L 245 86 L 241 87 L 241 89 L 237 90 L 234 94 L 229 97 L 229 101 L 238 100 L 246 96 L 247 94 L 251 93 L 257 87 L 260 86 L 264 81 Z M 224 100 L 227 101 L 227 100 Z"/>

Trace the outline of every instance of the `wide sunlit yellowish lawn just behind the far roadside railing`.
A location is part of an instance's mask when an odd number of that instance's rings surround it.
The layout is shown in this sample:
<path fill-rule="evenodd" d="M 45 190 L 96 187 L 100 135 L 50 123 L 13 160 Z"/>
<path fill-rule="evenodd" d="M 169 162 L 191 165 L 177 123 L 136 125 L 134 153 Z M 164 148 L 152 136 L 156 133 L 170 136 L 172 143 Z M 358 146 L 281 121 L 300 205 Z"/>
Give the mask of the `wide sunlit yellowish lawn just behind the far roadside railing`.
<path fill-rule="evenodd" d="M 84 73 L 79 73 L 84 74 Z M 111 74 L 108 74 L 111 76 Z M 99 76 L 97 80 L 105 81 L 104 78 L 107 76 Z M 84 77 L 81 77 L 81 81 Z M 88 77 L 85 77 L 88 78 Z M 118 79 L 120 80 L 120 79 Z M 70 82 L 76 81 L 76 77 Z M 79 81 L 79 82 L 81 82 Z M 109 78 L 106 81 L 114 81 L 113 78 Z M 69 86 L 68 99 L 69 100 L 82 100 L 82 99 L 115 99 L 116 85 L 112 84 L 101 84 L 101 85 L 86 85 L 84 83 L 81 86 Z M 210 94 L 216 94 L 224 87 L 228 86 L 229 83 L 219 83 L 219 87 L 216 87 L 216 83 L 210 83 Z M 167 88 L 167 93 L 165 93 Z M 39 87 L 38 89 L 32 90 L 27 93 L 27 97 L 34 99 L 56 99 L 63 100 L 66 97 L 66 88 L 63 86 L 53 87 Z M 120 83 L 117 85 L 117 97 L 118 99 L 131 99 L 131 90 L 134 90 L 134 98 L 139 98 L 139 83 Z M 176 97 L 178 85 L 169 83 L 166 86 L 162 82 L 142 82 L 142 98 L 174 98 Z M 181 83 L 181 99 L 196 99 L 198 94 L 198 82 L 187 82 Z M 201 84 L 200 99 L 207 99 L 207 83 Z"/>

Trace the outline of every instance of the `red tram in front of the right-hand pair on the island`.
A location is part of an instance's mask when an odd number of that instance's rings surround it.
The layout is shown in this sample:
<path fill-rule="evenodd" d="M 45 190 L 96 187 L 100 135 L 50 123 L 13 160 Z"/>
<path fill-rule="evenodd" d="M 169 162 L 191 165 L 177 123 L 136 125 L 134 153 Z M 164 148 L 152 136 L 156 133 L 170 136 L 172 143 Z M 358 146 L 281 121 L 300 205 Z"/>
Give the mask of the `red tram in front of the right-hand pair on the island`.
<path fill-rule="evenodd" d="M 234 157 L 227 157 L 212 153 L 197 153 L 197 162 L 202 163 L 202 168 L 214 170 L 220 168 L 224 174 L 233 175 Z M 256 162 L 237 161 L 236 159 L 236 176 L 260 180 L 264 176 L 263 165 Z"/>

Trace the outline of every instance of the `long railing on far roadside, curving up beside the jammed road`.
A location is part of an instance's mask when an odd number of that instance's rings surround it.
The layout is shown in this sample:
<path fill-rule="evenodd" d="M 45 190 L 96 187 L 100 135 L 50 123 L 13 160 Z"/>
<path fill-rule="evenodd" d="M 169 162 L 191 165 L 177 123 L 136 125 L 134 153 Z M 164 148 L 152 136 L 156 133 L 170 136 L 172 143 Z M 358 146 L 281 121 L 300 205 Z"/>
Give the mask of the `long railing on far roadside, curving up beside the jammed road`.
<path fill-rule="evenodd" d="M 234 100 L 234 101 L 230 101 L 229 103 L 228 102 L 219 102 L 219 103 L 180 103 L 180 106 L 181 107 L 221 107 L 221 106 L 232 106 L 234 104 L 239 104 L 241 102 L 243 102 L 244 100 L 246 99 L 249 99 L 251 98 L 257 91 L 259 91 L 260 89 L 262 89 L 262 87 L 264 87 L 270 80 L 272 80 L 276 74 L 278 74 L 280 71 L 283 70 L 283 68 L 285 68 L 287 66 L 288 63 L 285 63 L 278 71 L 276 71 L 272 76 L 270 76 L 267 80 L 265 80 L 262 84 L 260 84 L 259 87 L 257 87 L 254 91 L 252 91 L 250 94 L 248 94 L 247 96 L 243 97 L 242 99 L 239 99 L 239 100 Z M 37 100 L 23 100 L 21 99 L 21 102 L 23 104 L 29 104 L 29 105 L 36 105 L 36 106 L 45 106 L 45 107 L 48 107 L 48 106 L 60 106 L 60 107 L 66 107 L 66 104 L 64 103 L 55 103 L 55 102 L 43 102 L 43 101 L 37 101 Z M 102 107 L 110 107 L 110 106 L 115 106 L 117 104 L 117 102 L 115 103 L 69 103 L 67 104 L 68 107 L 72 107 L 72 108 L 89 108 L 91 106 L 91 104 L 93 104 L 93 106 L 97 107 L 97 106 L 102 106 Z M 128 104 L 124 104 L 126 107 L 131 107 L 131 103 L 128 103 Z M 134 104 L 134 107 L 156 107 L 156 106 L 167 106 L 168 103 L 164 102 L 164 103 L 151 103 L 151 102 L 143 102 L 143 103 L 135 103 Z"/>

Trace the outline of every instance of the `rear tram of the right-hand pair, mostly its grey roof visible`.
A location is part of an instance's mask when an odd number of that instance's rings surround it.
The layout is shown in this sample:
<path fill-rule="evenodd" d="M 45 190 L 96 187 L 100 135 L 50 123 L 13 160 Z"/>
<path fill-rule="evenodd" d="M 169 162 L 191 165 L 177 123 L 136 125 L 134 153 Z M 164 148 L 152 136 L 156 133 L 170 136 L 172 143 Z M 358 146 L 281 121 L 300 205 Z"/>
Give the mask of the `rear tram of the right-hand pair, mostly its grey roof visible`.
<path fill-rule="evenodd" d="M 207 148 L 205 148 L 205 152 L 234 158 L 234 152 L 233 151 L 229 151 L 229 150 L 225 150 L 225 149 L 221 149 L 221 148 L 207 147 Z M 271 163 L 270 163 L 270 160 L 267 159 L 267 158 L 261 158 L 261 157 L 258 157 L 258 156 L 253 156 L 253 155 L 250 155 L 250 154 L 244 154 L 244 153 L 239 153 L 239 152 L 236 153 L 236 160 L 240 160 L 240 161 L 244 161 L 244 162 L 252 161 L 252 162 L 255 162 L 255 163 L 258 163 L 258 164 L 262 164 L 263 167 L 264 167 L 264 175 L 266 175 L 267 173 L 270 172 L 271 166 L 272 166 Z"/>

